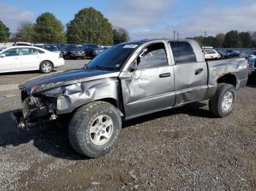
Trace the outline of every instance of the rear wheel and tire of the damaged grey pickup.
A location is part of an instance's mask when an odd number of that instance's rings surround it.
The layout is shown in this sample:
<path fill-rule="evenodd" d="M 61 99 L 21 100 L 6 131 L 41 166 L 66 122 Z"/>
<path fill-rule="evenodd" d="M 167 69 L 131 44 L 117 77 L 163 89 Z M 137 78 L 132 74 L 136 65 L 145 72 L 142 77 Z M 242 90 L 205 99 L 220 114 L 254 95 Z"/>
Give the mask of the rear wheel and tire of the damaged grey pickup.
<path fill-rule="evenodd" d="M 236 87 L 230 84 L 219 84 L 217 92 L 209 101 L 209 109 L 217 117 L 227 117 L 233 112 L 236 104 Z"/>

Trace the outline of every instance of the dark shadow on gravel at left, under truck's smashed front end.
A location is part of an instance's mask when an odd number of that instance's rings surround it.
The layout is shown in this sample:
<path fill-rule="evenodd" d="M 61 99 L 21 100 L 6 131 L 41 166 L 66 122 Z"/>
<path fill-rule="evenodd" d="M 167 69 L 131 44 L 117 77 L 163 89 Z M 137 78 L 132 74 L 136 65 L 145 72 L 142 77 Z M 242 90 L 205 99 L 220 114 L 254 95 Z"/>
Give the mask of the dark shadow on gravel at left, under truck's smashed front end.
<path fill-rule="evenodd" d="M 1 113 L 0 122 L 0 147 L 10 145 L 17 147 L 31 142 L 39 151 L 53 157 L 68 160 L 88 159 L 72 149 L 67 128 L 61 128 L 56 122 L 18 130 L 15 122 L 10 118 L 10 112 Z"/>

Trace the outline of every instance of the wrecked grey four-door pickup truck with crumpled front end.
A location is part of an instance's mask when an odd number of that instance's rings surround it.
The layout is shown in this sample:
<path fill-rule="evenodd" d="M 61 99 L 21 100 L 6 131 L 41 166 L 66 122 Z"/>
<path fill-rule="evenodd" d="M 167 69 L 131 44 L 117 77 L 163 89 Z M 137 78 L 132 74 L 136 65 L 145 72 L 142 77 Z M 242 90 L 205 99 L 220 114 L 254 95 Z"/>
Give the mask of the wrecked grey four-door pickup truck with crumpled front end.
<path fill-rule="evenodd" d="M 20 128 L 71 115 L 69 141 L 82 155 L 113 148 L 123 120 L 209 100 L 217 117 L 229 115 L 247 81 L 244 58 L 206 62 L 197 42 L 143 40 L 110 47 L 83 69 L 60 71 L 20 85 Z"/>

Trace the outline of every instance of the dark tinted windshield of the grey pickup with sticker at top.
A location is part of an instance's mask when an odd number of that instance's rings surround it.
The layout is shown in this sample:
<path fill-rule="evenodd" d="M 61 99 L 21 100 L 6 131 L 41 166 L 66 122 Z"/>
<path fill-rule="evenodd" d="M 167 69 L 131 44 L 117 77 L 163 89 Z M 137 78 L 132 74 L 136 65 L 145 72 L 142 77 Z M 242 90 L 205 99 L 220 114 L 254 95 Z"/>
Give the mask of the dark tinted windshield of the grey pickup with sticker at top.
<path fill-rule="evenodd" d="M 118 71 L 138 44 L 118 44 L 95 57 L 86 69 Z"/>

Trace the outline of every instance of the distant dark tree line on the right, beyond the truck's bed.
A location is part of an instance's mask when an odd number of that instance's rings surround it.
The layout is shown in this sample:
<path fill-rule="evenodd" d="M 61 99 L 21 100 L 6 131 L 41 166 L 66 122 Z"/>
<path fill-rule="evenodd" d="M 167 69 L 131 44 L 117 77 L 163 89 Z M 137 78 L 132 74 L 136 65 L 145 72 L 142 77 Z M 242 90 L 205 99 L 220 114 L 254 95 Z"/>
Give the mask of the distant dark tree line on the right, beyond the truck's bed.
<path fill-rule="evenodd" d="M 229 31 L 226 34 L 216 36 L 195 36 L 201 47 L 223 47 L 223 48 L 252 48 L 256 47 L 256 31 L 238 32 Z"/>

